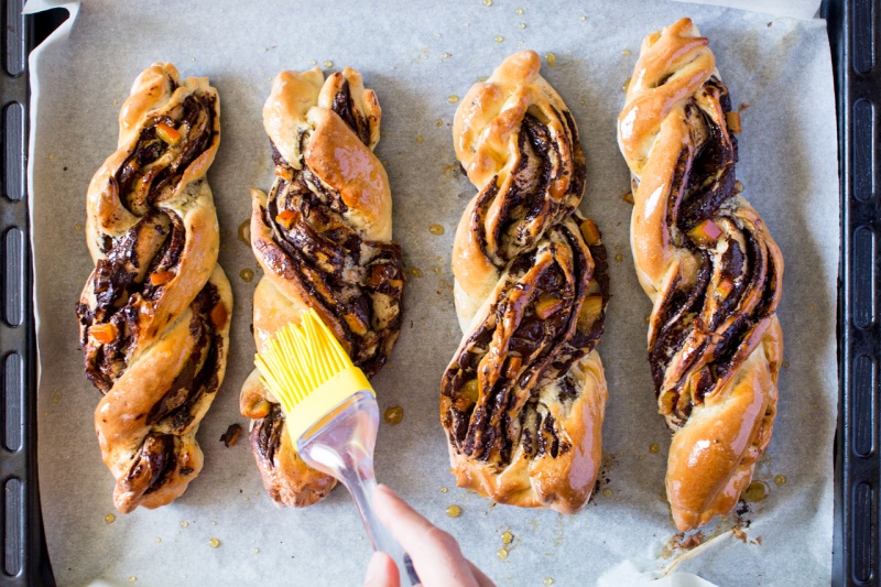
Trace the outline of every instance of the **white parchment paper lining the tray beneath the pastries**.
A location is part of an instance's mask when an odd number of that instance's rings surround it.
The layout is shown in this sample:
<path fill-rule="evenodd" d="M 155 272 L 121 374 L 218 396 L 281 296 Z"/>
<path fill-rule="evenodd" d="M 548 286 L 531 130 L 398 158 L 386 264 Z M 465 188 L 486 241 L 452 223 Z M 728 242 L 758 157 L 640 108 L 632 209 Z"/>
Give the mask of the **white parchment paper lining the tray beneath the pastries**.
<path fill-rule="evenodd" d="M 489 2 L 487 2 L 489 3 Z M 522 13 L 518 9 L 522 9 Z M 710 37 L 732 101 L 742 112 L 738 177 L 786 260 L 780 318 L 786 350 L 774 438 L 755 478 L 770 494 L 746 514 L 746 542 L 722 534 L 678 569 L 717 585 L 828 584 L 836 421 L 835 303 L 838 184 L 833 75 L 823 21 L 666 1 L 481 0 L 440 3 L 162 3 L 90 0 L 66 40 L 33 61 L 39 81 L 31 156 L 31 205 L 42 378 L 39 458 L 50 553 L 59 585 L 355 585 L 370 548 L 349 496 L 280 510 L 265 496 L 248 442 L 218 438 L 238 413 L 251 370 L 251 295 L 260 275 L 236 237 L 250 210 L 248 189 L 272 182 L 261 108 L 272 77 L 325 62 L 359 68 L 379 94 L 385 162 L 394 195 L 394 236 L 410 268 L 405 319 L 390 365 L 374 379 L 383 425 L 378 477 L 452 532 L 499 585 L 592 584 L 628 561 L 645 572 L 671 564 L 674 535 L 663 479 L 670 434 L 656 414 L 645 358 L 650 304 L 629 249 L 627 167 L 616 143 L 621 86 L 642 37 L 692 17 Z M 450 123 L 470 85 L 521 48 L 554 53 L 543 75 L 578 123 L 587 154 L 583 209 L 603 233 L 612 301 L 599 346 L 610 398 L 606 467 L 579 514 L 492 507 L 454 487 L 438 422 L 439 379 L 460 333 L 452 296 L 454 228 L 475 189 L 460 175 Z M 224 387 L 199 442 L 205 469 L 175 503 L 115 512 L 113 481 L 93 425 L 99 393 L 77 348 L 74 304 L 93 269 L 84 233 L 89 180 L 116 149 L 117 115 L 134 77 L 154 61 L 207 75 L 221 99 L 222 142 L 209 172 L 222 230 L 220 263 L 236 314 Z M 438 224 L 443 236 L 429 233 Z M 242 270 L 253 270 L 252 282 Z M 650 445 L 660 452 L 652 453 Z M 775 485 L 785 476 L 785 485 Z M 608 479 L 608 481 L 606 481 Z M 780 478 L 779 478 L 780 479 Z M 780 479 L 782 481 L 782 479 Z M 445 489 L 448 488 L 448 489 Z M 458 504 L 461 517 L 448 518 Z M 106 521 L 115 514 L 112 523 Z M 730 528 L 720 524 L 715 533 Z M 500 559 L 502 532 L 514 535 Z M 707 535 L 714 534 L 710 529 Z M 210 539 L 219 547 L 209 545 Z M 761 541 L 759 541 L 761 539 Z M 759 543 L 760 542 L 760 543 Z M 133 577 L 133 578 L 132 578 Z"/>

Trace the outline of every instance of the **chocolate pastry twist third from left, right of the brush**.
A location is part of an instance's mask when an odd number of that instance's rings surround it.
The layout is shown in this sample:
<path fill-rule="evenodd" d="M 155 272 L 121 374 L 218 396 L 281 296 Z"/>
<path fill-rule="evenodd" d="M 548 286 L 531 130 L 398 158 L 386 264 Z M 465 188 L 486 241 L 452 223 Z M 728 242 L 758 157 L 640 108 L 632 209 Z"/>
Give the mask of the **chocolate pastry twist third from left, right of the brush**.
<path fill-rule="evenodd" d="M 463 100 L 456 155 L 479 189 L 453 248 L 465 336 L 442 381 L 459 487 L 501 503 L 579 510 L 601 460 L 606 379 L 594 350 L 609 298 L 606 249 L 576 211 L 585 157 L 532 51 Z"/>

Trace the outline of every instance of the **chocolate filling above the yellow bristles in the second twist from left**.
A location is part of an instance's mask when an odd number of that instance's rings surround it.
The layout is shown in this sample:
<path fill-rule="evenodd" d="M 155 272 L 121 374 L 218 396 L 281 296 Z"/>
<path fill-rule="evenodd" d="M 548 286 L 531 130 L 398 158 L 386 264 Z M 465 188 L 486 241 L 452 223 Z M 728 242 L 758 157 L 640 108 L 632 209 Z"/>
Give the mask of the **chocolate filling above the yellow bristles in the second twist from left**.
<path fill-rule="evenodd" d="M 369 127 L 352 107 L 348 81 L 333 109 L 367 142 Z M 346 204 L 308 170 L 295 170 L 273 145 L 279 177 L 263 222 L 275 247 L 263 261 L 296 283 L 333 322 L 352 361 L 370 377 L 384 365 L 401 328 L 403 267 L 398 243 L 362 239 L 348 222 Z"/>

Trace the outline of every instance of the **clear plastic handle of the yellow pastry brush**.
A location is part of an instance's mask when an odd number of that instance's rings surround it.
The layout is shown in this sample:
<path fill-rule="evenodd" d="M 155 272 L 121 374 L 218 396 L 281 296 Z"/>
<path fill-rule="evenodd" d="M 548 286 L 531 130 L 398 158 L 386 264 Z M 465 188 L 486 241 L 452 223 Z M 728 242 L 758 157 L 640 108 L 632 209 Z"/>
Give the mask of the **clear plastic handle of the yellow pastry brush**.
<path fill-rule="evenodd" d="M 320 426 L 296 443 L 303 459 L 313 468 L 337 478 L 355 499 L 374 551 L 392 557 L 401 586 L 421 585 L 413 562 L 373 512 L 373 447 L 379 428 L 379 407 L 369 391 L 359 391 L 335 407 Z"/>

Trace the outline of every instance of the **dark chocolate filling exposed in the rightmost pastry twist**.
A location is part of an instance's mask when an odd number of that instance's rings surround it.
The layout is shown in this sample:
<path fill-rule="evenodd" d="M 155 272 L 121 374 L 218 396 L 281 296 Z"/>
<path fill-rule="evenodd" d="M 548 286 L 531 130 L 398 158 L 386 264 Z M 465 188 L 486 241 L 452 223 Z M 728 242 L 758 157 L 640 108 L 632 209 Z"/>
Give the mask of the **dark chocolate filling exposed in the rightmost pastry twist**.
<path fill-rule="evenodd" d="M 731 110 L 728 89 L 716 77 L 703 91 L 718 99 L 725 113 Z M 649 341 L 655 393 L 664 396 L 662 411 L 674 430 L 749 357 L 757 344 L 750 335 L 780 297 L 772 244 L 735 200 L 736 137 L 695 101 L 685 115 L 706 135 L 694 153 L 684 149 L 679 155 L 672 193 L 682 191 L 682 199 L 668 198 L 668 218 L 676 244 L 693 251 L 699 268 L 690 282 L 679 275 L 662 292 Z M 715 242 L 689 236 L 704 221 L 721 229 Z"/>

